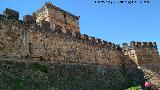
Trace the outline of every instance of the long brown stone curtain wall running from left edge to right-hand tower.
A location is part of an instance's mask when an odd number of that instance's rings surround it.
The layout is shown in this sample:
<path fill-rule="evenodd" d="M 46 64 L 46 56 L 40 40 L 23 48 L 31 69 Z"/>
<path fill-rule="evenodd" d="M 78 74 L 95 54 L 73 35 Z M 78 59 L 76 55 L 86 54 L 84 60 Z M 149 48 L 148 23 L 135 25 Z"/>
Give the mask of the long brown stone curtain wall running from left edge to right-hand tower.
<path fill-rule="evenodd" d="M 31 22 L 0 16 L 0 56 L 43 58 L 54 62 L 121 66 L 121 48 L 80 33 L 57 32 Z M 45 25 L 45 24 L 44 24 Z"/>

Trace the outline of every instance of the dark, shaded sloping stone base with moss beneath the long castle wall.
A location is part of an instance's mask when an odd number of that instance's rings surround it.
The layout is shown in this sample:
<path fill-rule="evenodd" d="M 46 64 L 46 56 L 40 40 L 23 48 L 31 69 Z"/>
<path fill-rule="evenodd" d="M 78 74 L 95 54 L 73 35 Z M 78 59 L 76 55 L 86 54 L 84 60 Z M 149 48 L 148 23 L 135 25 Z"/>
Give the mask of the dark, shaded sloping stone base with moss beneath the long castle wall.
<path fill-rule="evenodd" d="M 0 59 L 1 90 L 125 90 L 129 85 L 113 66 L 27 60 Z"/>

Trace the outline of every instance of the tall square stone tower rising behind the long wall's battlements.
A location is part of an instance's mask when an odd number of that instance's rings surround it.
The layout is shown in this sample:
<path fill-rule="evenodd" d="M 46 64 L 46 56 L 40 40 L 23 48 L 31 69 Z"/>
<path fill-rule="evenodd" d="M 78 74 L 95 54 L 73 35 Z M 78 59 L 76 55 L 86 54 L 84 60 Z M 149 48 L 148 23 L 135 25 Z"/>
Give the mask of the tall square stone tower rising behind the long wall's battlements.
<path fill-rule="evenodd" d="M 48 21 L 52 30 L 62 32 L 70 31 L 73 35 L 79 30 L 79 16 L 75 16 L 67 11 L 46 3 L 42 8 L 35 12 L 36 22 Z"/>

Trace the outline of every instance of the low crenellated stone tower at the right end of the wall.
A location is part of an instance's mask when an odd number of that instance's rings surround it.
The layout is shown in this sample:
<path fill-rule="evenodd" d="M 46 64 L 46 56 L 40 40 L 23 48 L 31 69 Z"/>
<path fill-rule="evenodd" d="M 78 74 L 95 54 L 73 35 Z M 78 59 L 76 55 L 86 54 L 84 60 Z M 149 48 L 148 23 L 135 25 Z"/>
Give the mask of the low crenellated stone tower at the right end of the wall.
<path fill-rule="evenodd" d="M 136 64 L 147 64 L 159 60 L 156 42 L 130 42 L 130 46 L 123 44 L 123 52 Z"/>

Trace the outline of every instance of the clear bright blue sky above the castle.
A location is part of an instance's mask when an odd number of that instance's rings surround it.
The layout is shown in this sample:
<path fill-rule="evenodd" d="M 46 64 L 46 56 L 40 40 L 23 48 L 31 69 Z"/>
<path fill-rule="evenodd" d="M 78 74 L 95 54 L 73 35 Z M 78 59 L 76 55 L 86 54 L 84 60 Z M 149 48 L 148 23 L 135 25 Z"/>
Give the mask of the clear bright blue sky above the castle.
<path fill-rule="evenodd" d="M 0 13 L 7 7 L 12 8 L 20 12 L 22 19 L 23 15 L 32 14 L 46 1 L 80 16 L 80 30 L 83 34 L 116 44 L 155 41 L 160 49 L 160 0 L 131 5 L 98 4 L 95 0 L 0 0 Z"/>

